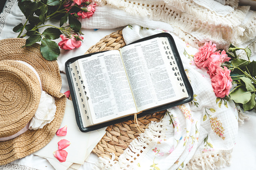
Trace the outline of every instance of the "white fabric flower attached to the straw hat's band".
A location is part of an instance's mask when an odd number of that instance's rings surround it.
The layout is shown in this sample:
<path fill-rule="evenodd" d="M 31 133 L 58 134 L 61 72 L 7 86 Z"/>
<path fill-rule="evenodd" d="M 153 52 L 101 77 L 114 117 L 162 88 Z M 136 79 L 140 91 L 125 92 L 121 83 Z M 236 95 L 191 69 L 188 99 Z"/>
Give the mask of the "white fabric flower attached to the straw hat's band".
<path fill-rule="evenodd" d="M 56 112 L 55 100 L 45 91 L 41 92 L 41 98 L 35 115 L 32 117 L 29 129 L 43 128 L 44 125 L 50 123 L 54 119 Z"/>

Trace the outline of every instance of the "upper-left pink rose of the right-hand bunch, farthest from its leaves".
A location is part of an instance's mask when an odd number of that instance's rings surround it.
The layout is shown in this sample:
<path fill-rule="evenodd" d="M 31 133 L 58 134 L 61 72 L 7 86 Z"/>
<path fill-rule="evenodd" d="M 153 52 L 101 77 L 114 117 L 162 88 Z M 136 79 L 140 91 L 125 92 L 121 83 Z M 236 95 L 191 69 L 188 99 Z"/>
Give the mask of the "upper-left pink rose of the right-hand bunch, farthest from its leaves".
<path fill-rule="evenodd" d="M 216 44 L 206 42 L 203 47 L 199 48 L 199 52 L 194 55 L 195 64 L 199 67 L 208 67 L 210 55 L 217 50 Z"/>

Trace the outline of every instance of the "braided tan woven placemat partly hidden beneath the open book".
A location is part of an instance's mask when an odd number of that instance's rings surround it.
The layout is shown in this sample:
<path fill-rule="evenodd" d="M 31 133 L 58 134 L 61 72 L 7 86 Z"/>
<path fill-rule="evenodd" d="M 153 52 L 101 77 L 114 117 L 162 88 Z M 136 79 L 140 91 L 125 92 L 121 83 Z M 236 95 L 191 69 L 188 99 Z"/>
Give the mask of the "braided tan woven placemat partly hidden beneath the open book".
<path fill-rule="evenodd" d="M 96 53 L 99 51 L 118 50 L 125 46 L 122 30 L 112 33 L 97 44 L 92 46 L 85 54 Z M 106 134 L 100 142 L 95 146 L 93 152 L 98 156 L 107 156 L 111 158 L 110 153 L 115 153 L 115 159 L 118 159 L 124 150 L 129 146 L 130 142 L 135 139 L 141 132 L 144 132 L 151 121 L 159 122 L 166 110 L 148 114 L 138 118 L 138 124 L 134 120 L 117 123 L 108 126 Z M 138 128 L 138 125 L 140 128 Z M 138 130 L 140 129 L 140 131 Z"/>

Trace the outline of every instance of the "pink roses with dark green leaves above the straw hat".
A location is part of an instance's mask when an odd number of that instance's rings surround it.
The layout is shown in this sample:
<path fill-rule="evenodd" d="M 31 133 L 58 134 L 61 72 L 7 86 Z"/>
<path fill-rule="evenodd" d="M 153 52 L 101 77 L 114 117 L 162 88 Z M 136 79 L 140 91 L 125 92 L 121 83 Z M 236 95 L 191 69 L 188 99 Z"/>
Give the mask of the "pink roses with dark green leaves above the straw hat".
<path fill-rule="evenodd" d="M 41 42 L 42 56 L 47 60 L 56 60 L 60 54 L 59 47 L 72 50 L 81 46 L 83 37 L 80 36 L 81 23 L 78 19 L 92 17 L 96 4 L 89 0 L 18 0 L 18 6 L 27 20 L 13 31 L 20 33 L 18 38 L 28 36 L 25 46 Z M 45 25 L 48 20 L 59 21 L 59 27 Z M 65 25 L 67 21 L 68 25 Z M 47 28 L 40 33 L 43 27 Z M 59 37 L 62 41 L 58 44 L 52 41 Z"/>

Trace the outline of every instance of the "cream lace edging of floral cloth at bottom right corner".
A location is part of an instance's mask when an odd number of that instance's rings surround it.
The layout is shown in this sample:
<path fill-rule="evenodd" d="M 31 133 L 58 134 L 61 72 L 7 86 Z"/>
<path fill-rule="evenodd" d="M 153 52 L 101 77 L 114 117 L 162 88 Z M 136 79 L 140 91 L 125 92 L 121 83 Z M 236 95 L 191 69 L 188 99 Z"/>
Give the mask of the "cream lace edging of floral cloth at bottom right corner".
<path fill-rule="evenodd" d="M 232 151 L 233 149 L 217 150 L 195 155 L 187 163 L 185 169 L 218 169 L 229 166 L 232 157 Z"/>

